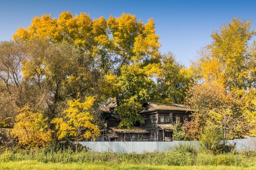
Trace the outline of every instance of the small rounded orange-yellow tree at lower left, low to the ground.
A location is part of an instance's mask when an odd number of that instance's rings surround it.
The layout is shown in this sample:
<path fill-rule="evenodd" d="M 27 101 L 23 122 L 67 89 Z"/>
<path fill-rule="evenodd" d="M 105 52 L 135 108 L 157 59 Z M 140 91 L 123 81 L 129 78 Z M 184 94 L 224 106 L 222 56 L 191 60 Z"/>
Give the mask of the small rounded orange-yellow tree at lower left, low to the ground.
<path fill-rule="evenodd" d="M 52 131 L 48 129 L 43 114 L 34 113 L 29 105 L 19 108 L 11 134 L 18 138 L 21 146 L 41 147 L 52 140 Z"/>

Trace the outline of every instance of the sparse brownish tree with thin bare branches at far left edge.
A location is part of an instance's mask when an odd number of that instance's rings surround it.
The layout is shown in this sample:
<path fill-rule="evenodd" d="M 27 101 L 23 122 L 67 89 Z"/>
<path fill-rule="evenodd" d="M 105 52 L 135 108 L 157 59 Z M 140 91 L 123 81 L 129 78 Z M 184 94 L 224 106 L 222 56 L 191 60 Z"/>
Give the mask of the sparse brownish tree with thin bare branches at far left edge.
<path fill-rule="evenodd" d="M 22 84 L 22 46 L 12 41 L 0 42 L 0 121 L 13 126 L 18 107 L 29 101 Z M 5 121 L 7 118 L 13 121 Z M 8 119 L 10 120 L 10 119 Z"/>

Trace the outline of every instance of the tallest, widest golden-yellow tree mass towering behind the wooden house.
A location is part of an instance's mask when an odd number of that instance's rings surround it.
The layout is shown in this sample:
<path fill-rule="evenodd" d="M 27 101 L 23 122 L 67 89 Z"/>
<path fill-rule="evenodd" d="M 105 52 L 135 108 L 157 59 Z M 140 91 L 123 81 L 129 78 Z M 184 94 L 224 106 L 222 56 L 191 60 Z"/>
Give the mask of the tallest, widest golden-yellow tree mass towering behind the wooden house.
<path fill-rule="evenodd" d="M 73 54 L 71 53 L 75 53 L 76 49 L 69 49 L 70 53 L 59 53 L 71 57 L 61 60 L 46 60 L 49 63 L 44 62 L 38 67 L 38 71 L 43 71 L 46 77 L 48 77 L 47 73 L 52 72 L 49 74 L 52 77 L 50 79 L 42 76 L 43 79 L 47 79 L 46 84 L 52 87 L 53 99 L 47 102 L 51 118 L 56 117 L 58 104 L 69 97 L 79 98 L 80 96 L 94 95 L 95 99 L 101 103 L 106 103 L 111 98 L 121 103 L 122 100 L 135 97 L 135 102 L 142 104 L 153 96 L 152 93 L 155 91 L 153 76 L 159 72 L 159 58 L 161 57 L 158 51 L 159 36 L 155 34 L 153 19 L 149 19 L 144 24 L 141 20 L 137 20 L 135 15 L 123 13 L 120 17 L 111 15 L 107 20 L 103 17 L 91 20 L 86 13 L 73 16 L 70 11 L 63 11 L 58 18 L 51 18 L 51 15 L 35 17 L 30 26 L 18 28 L 17 32 L 13 34 L 13 40 L 22 44 L 33 42 L 34 39 L 44 39 L 50 42 L 52 45 L 50 49 L 53 53 L 57 52 L 54 49 L 59 48 L 56 46 L 63 41 L 76 46 L 81 52 L 79 57 L 74 57 L 78 61 L 76 63 L 78 67 L 74 73 L 67 73 L 63 69 L 69 70 L 72 66 L 74 60 L 72 60 Z M 45 55 L 44 52 L 43 55 Z M 71 60 L 72 62 L 69 63 Z M 41 62 L 41 60 L 35 61 Z M 51 62 L 52 64 L 56 62 L 56 65 L 51 65 Z M 61 65 L 58 66 L 59 64 Z M 35 66 L 32 65 L 27 64 L 28 67 L 34 69 Z M 54 74 L 52 69 L 51 72 L 48 72 L 47 70 L 51 66 L 53 69 L 54 66 L 58 66 L 58 68 L 55 67 L 56 71 L 60 70 L 59 73 L 65 75 Z M 134 71 L 137 71 L 138 74 L 135 74 Z M 33 78 L 37 80 L 37 82 L 33 80 L 37 85 L 41 84 L 38 83 L 40 79 L 38 79 L 38 75 Z M 101 88 L 106 89 L 109 77 L 116 77 L 116 81 L 111 80 L 115 81 L 111 86 L 117 88 L 114 91 L 103 91 Z M 61 81 L 59 81 L 60 79 Z M 136 79 L 140 79 L 140 81 L 137 82 Z M 132 87 L 129 83 L 132 83 Z M 64 90 L 64 88 L 66 89 Z M 64 91 L 67 92 L 66 95 L 61 95 L 60 92 Z M 150 94 L 147 94 L 148 92 Z"/>

